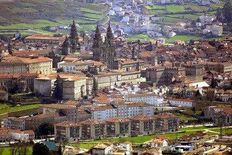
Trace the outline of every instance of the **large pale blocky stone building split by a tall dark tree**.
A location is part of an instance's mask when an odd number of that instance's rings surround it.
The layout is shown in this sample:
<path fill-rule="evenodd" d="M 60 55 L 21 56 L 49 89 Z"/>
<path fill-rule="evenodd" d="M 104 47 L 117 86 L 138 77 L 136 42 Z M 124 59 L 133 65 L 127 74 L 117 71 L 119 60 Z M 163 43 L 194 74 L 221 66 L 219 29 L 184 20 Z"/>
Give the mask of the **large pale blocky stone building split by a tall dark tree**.
<path fill-rule="evenodd" d="M 34 80 L 34 93 L 52 96 L 57 78 L 61 79 L 62 97 L 64 100 L 77 100 L 92 93 L 92 78 L 84 74 L 50 74 Z"/>

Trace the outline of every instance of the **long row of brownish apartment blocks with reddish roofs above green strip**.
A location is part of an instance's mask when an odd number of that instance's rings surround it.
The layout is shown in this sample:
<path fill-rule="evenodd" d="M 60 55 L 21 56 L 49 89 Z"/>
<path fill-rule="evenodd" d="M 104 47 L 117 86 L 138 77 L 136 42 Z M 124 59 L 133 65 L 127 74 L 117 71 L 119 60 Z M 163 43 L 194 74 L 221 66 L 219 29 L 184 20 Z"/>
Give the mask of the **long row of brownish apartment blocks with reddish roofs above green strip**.
<path fill-rule="evenodd" d="M 162 122 L 162 123 L 160 123 Z M 77 141 L 79 139 L 98 139 L 100 137 L 121 137 L 174 132 L 179 128 L 179 120 L 172 114 L 155 116 L 138 115 L 128 118 L 114 118 L 105 121 L 86 120 L 55 124 L 57 139 Z"/>

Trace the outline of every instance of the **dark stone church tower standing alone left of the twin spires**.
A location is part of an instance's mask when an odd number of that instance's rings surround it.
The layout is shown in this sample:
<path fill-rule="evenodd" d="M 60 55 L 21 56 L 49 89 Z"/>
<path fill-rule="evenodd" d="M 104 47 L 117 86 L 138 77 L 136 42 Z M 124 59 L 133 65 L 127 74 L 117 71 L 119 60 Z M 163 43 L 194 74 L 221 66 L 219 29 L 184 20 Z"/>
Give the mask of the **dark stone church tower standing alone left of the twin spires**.
<path fill-rule="evenodd" d="M 76 23 L 73 20 L 73 24 L 71 25 L 71 31 L 70 31 L 70 44 L 71 44 L 71 52 L 74 53 L 77 50 L 77 45 L 78 45 L 78 34 L 77 34 L 77 27 Z"/>

